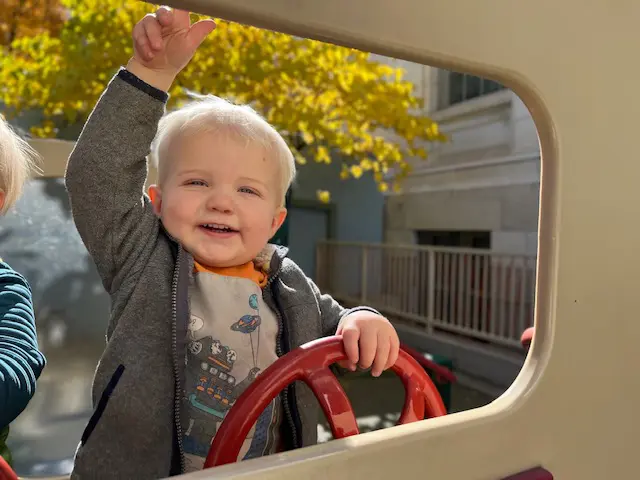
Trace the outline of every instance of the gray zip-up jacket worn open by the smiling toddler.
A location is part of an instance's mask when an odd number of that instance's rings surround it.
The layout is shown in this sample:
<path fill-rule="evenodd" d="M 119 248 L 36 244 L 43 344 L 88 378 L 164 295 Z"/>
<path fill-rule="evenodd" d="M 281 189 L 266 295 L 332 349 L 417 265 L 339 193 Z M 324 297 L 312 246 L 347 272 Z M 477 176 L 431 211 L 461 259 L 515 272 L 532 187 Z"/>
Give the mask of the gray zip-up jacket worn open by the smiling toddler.
<path fill-rule="evenodd" d="M 163 229 L 143 193 L 146 157 L 167 94 L 121 69 L 69 158 L 73 218 L 111 296 L 95 411 L 72 478 L 156 479 L 184 469 L 181 402 L 193 258 Z M 279 248 L 264 299 L 279 320 L 277 354 L 333 335 L 342 308 Z M 224 296 L 221 296 L 224 301 Z M 288 449 L 317 441 L 319 408 L 304 384 L 281 394 Z"/>

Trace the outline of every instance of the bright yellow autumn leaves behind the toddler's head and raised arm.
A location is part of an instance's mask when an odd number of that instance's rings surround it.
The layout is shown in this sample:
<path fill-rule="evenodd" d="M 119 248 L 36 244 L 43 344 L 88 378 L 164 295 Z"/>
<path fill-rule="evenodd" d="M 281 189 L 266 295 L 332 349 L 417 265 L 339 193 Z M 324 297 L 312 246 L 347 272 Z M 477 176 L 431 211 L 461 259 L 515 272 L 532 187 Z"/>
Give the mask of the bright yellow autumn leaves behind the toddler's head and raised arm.
<path fill-rule="evenodd" d="M 154 6 L 122 0 L 29 3 L 40 16 L 36 22 L 23 12 L 17 20 L 23 33 L 4 44 L 0 101 L 9 115 L 40 110 L 42 121 L 32 133 L 59 136 L 86 120 L 106 82 L 131 55 L 133 25 Z M 47 9 L 40 8 L 45 3 Z M 56 17 L 43 18 L 42 12 Z M 2 22 L 0 16 L 0 29 Z M 169 108 L 189 101 L 190 92 L 250 103 L 283 134 L 299 164 L 338 161 L 341 178 L 372 174 L 379 189 L 388 191 L 399 188 L 413 159 L 426 157 L 429 142 L 445 139 L 430 118 L 415 113 L 422 100 L 402 77 L 401 69 L 364 52 L 219 21 L 178 77 Z M 317 196 L 330 201 L 329 192 Z"/>

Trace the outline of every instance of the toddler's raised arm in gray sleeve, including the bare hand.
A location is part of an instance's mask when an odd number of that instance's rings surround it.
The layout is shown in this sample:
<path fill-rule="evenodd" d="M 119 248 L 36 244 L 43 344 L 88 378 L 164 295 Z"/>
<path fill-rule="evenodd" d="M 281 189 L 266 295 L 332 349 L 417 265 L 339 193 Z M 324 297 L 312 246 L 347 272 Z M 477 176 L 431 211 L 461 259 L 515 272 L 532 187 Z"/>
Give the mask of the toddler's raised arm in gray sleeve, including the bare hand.
<path fill-rule="evenodd" d="M 114 292 L 146 261 L 159 220 L 143 188 L 167 91 L 214 23 L 160 8 L 133 30 L 134 56 L 110 82 L 66 172 L 76 227 L 105 288 Z"/>

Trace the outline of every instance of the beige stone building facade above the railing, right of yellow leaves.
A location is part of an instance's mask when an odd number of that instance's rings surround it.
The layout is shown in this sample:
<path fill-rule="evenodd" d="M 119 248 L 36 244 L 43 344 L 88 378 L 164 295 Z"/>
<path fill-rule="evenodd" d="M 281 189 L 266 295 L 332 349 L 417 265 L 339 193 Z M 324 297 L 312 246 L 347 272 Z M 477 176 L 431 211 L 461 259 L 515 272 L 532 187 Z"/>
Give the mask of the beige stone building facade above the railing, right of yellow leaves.
<path fill-rule="evenodd" d="M 535 254 L 540 153 L 522 101 L 488 79 L 392 63 L 406 69 L 450 141 L 430 145 L 403 191 L 387 196 L 385 242 Z"/>

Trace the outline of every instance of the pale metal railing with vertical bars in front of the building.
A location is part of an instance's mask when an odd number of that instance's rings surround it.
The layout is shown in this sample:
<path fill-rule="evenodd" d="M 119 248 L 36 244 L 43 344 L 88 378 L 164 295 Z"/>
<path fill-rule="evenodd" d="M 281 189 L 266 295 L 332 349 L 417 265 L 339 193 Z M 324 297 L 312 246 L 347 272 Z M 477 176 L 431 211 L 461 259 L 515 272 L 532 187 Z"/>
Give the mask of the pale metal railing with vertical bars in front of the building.
<path fill-rule="evenodd" d="M 520 348 L 533 324 L 536 257 L 466 248 L 321 242 L 318 286 L 428 332 Z"/>

